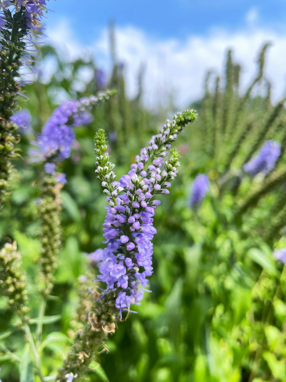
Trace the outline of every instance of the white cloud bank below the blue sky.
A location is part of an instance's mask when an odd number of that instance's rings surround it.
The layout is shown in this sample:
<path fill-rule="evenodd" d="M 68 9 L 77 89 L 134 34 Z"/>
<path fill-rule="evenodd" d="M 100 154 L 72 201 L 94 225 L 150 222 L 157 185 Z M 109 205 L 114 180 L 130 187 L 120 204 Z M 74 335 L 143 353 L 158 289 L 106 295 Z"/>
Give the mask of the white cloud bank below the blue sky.
<path fill-rule="evenodd" d="M 273 99 L 284 95 L 286 65 L 286 30 L 284 33 L 254 27 L 257 11 L 251 10 L 246 16 L 252 26 L 236 32 L 213 29 L 206 36 L 188 36 L 184 41 L 178 39 L 155 39 L 134 26 L 117 28 L 116 43 L 118 60 L 125 63 L 127 91 L 130 97 L 137 93 L 138 72 L 146 64 L 145 103 L 149 107 L 164 104 L 172 92 L 178 107 L 185 107 L 198 99 L 203 93 L 204 77 L 207 70 L 223 74 L 226 51 L 233 49 L 234 60 L 241 64 L 242 88 L 245 89 L 255 74 L 256 58 L 264 42 L 273 42 L 266 59 L 266 76 L 272 83 Z M 64 25 L 64 26 L 63 26 Z M 72 34 L 68 24 L 59 30 L 49 32 L 54 44 L 65 41 L 70 57 L 91 50 L 96 62 L 110 71 L 108 31 L 89 42 L 84 49 Z M 63 34 L 65 35 L 63 37 Z M 60 36 L 60 37 L 59 37 Z M 81 52 L 81 53 L 80 53 Z"/>

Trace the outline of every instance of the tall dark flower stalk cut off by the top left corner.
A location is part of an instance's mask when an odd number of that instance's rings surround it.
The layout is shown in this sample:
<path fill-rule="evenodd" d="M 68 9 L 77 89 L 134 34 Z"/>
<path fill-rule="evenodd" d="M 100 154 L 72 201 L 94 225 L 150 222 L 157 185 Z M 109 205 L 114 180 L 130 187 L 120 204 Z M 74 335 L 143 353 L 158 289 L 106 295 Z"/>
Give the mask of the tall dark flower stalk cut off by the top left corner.
<path fill-rule="evenodd" d="M 48 0 L 47 0 L 48 1 Z M 20 80 L 23 65 L 30 65 L 31 32 L 42 34 L 41 18 L 45 0 L 0 2 L 0 207 L 12 176 L 17 125 L 10 120 L 18 106 L 18 97 L 25 82 Z"/>

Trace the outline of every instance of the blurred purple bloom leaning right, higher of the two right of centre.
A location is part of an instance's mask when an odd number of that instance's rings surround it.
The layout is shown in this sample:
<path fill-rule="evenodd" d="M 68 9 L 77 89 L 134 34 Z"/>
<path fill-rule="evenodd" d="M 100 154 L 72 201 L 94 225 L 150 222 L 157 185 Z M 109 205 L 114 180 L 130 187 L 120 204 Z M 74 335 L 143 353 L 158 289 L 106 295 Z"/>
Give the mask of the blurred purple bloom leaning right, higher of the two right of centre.
<path fill-rule="evenodd" d="M 273 170 L 280 152 L 280 143 L 270 139 L 264 143 L 259 153 L 243 166 L 243 169 L 252 176 L 260 172 L 267 174 Z"/>

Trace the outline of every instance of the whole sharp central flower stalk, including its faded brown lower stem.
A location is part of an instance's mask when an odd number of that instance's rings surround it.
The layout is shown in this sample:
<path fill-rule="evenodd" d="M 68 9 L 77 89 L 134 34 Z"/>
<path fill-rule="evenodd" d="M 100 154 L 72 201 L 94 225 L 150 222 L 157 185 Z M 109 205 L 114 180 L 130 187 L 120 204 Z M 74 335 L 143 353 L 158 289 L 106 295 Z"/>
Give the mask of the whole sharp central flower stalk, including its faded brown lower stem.
<path fill-rule="evenodd" d="M 153 273 L 151 240 L 156 233 L 153 216 L 160 204 L 154 197 L 169 194 L 171 181 L 177 176 L 179 152 L 171 148 L 183 127 L 197 118 L 194 110 L 177 113 L 167 120 L 160 133 L 135 157 L 127 175 L 116 181 L 114 164 L 107 152 L 105 133 L 95 136 L 96 175 L 104 187 L 108 206 L 104 226 L 107 244 L 99 261 L 98 285 L 91 291 L 94 300 L 87 313 L 85 330 L 80 330 L 76 343 L 67 355 L 57 380 L 64 382 L 71 374 L 80 380 L 95 352 L 104 350 L 104 340 L 115 332 L 116 325 L 129 315 L 130 306 L 140 303 Z M 124 313 L 126 312 L 125 316 Z"/>

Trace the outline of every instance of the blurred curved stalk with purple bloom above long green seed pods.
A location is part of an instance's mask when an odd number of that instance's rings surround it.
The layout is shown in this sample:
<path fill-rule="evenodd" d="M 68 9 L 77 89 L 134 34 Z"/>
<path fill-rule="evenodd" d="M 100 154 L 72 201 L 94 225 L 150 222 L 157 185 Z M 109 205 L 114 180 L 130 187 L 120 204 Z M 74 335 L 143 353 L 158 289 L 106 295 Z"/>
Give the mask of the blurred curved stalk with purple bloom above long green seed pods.
<path fill-rule="evenodd" d="M 59 163 L 71 154 L 74 142 L 73 128 L 88 125 L 92 121 L 90 112 L 109 99 L 115 91 L 100 92 L 97 96 L 67 100 L 53 112 L 43 127 L 42 133 L 34 141 L 31 150 L 32 160 L 42 162 L 40 172 L 41 196 L 38 199 L 42 232 L 42 249 L 39 257 L 42 301 L 39 309 L 40 319 L 45 315 L 47 296 L 53 288 L 53 277 L 57 266 L 58 254 L 62 245 L 61 238 L 61 198 L 60 191 L 66 183 L 64 173 L 58 172 Z M 42 338 L 42 322 L 37 325 L 37 348 Z"/>

